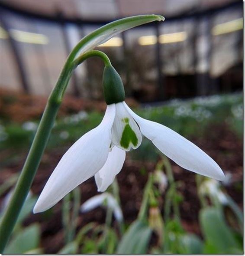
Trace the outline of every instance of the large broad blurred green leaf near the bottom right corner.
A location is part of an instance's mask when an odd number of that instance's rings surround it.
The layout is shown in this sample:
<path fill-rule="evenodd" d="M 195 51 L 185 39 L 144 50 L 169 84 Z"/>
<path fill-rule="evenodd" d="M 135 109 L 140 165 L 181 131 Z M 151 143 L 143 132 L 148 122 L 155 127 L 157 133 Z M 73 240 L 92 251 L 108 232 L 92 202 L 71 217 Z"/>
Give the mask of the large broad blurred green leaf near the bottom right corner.
<path fill-rule="evenodd" d="M 220 210 L 214 207 L 201 210 L 200 224 L 209 253 L 229 254 L 232 248 L 239 247 Z"/>

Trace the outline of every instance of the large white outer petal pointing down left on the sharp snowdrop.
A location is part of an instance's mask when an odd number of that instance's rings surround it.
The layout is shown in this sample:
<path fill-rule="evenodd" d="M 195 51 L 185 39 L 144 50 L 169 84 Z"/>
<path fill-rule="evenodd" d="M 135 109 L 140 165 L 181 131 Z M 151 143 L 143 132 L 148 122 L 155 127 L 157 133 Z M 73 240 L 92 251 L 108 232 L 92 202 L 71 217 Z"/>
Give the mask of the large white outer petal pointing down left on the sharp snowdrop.
<path fill-rule="evenodd" d="M 103 167 L 109 154 L 114 118 L 115 104 L 112 104 L 107 106 L 100 125 L 68 149 L 42 190 L 33 209 L 34 213 L 49 209 Z"/>

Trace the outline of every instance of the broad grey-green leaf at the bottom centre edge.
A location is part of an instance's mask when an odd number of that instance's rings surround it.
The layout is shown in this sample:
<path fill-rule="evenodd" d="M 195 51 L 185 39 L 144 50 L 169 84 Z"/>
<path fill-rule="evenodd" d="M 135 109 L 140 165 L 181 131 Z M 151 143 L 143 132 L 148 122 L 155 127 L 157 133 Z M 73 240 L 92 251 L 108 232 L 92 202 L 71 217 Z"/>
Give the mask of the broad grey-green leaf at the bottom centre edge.
<path fill-rule="evenodd" d="M 119 243 L 117 254 L 145 254 L 152 230 L 144 222 L 136 220 L 126 231 Z"/>

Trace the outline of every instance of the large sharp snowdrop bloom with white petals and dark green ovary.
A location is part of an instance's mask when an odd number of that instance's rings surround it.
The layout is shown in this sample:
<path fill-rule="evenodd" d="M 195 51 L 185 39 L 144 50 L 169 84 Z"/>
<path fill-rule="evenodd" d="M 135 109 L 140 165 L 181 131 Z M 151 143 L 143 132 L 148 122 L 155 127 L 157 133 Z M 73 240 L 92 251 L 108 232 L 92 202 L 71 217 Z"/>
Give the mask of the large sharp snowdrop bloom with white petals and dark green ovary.
<path fill-rule="evenodd" d="M 98 191 L 105 191 L 121 171 L 126 152 L 140 146 L 142 135 L 184 169 L 222 180 L 224 174 L 218 164 L 200 148 L 170 128 L 141 118 L 129 108 L 124 102 L 122 80 L 112 66 L 104 69 L 103 92 L 107 104 L 103 120 L 61 158 L 42 190 L 34 213 L 49 209 L 93 176 Z"/>

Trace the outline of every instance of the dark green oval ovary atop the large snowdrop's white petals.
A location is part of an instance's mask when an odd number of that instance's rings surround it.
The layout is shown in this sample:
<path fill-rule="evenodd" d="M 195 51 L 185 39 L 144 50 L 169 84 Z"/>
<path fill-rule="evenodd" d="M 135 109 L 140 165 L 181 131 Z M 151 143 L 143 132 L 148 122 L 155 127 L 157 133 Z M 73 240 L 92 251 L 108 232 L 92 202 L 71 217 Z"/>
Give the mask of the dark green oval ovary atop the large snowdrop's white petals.
<path fill-rule="evenodd" d="M 113 66 L 106 66 L 104 69 L 103 92 L 107 105 L 123 102 L 125 99 L 122 79 Z"/>

